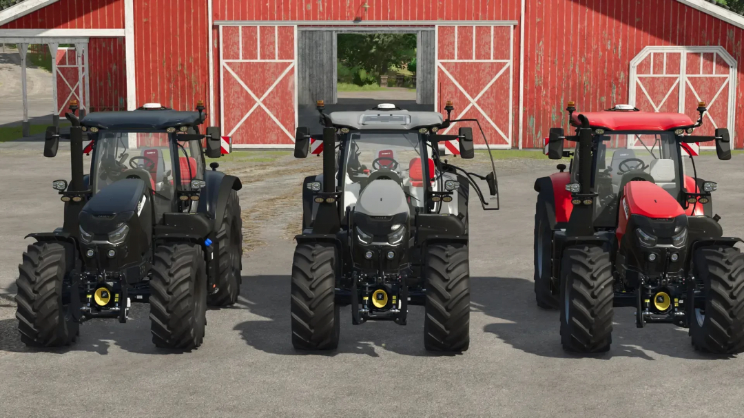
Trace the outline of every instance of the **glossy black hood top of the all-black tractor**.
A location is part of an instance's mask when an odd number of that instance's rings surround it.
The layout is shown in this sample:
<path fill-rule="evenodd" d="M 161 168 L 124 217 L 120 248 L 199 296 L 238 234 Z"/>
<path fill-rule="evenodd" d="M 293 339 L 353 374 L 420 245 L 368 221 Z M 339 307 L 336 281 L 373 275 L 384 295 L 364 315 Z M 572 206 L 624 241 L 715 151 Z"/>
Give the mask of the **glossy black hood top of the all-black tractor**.
<path fill-rule="evenodd" d="M 136 212 L 145 186 L 141 179 L 121 179 L 104 187 L 83 207 L 93 216 Z"/>

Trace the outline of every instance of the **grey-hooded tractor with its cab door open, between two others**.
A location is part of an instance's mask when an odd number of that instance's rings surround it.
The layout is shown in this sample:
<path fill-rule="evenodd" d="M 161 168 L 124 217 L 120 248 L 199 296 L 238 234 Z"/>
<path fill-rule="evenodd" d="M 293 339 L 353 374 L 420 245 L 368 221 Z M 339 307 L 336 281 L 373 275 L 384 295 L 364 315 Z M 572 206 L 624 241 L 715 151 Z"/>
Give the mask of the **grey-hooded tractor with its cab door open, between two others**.
<path fill-rule="evenodd" d="M 484 209 L 498 210 L 498 190 L 495 170 L 479 176 L 440 158 L 445 141 L 459 141 L 461 158 L 475 155 L 472 128 L 437 135 L 477 122 L 450 120 L 452 103 L 445 109 L 446 120 L 391 104 L 326 115 L 318 101 L 323 134 L 297 129 L 295 157 L 322 141 L 323 173 L 302 186 L 303 231 L 292 263 L 296 349 L 335 349 L 341 306 L 351 306 L 352 324 L 405 325 L 408 305 L 423 305 L 426 350 L 467 350 L 468 199 L 472 187 Z M 487 181 L 496 207 L 487 207 L 475 179 Z"/>

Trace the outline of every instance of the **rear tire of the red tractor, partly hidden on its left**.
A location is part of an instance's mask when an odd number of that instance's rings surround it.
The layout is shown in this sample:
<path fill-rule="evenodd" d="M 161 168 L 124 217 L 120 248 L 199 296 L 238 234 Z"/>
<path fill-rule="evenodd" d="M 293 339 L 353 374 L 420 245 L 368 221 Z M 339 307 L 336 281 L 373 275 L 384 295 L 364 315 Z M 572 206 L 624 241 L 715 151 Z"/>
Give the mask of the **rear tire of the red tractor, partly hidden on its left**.
<path fill-rule="evenodd" d="M 542 309 L 558 309 L 558 295 L 551 292 L 551 257 L 553 257 L 553 230 L 548 218 L 547 202 L 542 195 L 537 197 L 535 208 L 535 300 Z"/>

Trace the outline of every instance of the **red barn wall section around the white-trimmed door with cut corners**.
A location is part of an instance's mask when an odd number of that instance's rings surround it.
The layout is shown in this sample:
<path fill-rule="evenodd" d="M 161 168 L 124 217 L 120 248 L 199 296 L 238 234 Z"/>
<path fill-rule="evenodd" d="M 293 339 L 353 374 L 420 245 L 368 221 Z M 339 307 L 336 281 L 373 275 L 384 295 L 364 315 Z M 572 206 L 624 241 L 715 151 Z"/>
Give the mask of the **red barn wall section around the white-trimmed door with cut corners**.
<path fill-rule="evenodd" d="M 525 20 L 525 147 L 568 129 L 569 100 L 587 112 L 628 103 L 630 60 L 647 46 L 721 45 L 737 60 L 737 115 L 744 109 L 744 30 L 679 1 L 527 1 Z M 744 117 L 735 123 L 741 148 Z"/>

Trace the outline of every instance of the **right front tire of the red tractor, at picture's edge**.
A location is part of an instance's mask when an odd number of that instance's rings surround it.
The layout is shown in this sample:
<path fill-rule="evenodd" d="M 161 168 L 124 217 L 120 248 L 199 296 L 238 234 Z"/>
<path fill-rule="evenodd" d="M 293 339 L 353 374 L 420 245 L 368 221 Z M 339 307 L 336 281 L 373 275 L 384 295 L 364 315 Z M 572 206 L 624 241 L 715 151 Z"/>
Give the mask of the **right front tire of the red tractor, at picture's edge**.
<path fill-rule="evenodd" d="M 744 352 L 744 254 L 704 247 L 693 257 L 696 281 L 705 291 L 704 309 L 691 299 L 688 306 L 693 347 L 714 354 Z"/>

